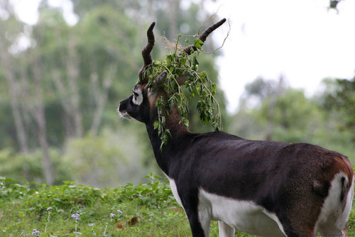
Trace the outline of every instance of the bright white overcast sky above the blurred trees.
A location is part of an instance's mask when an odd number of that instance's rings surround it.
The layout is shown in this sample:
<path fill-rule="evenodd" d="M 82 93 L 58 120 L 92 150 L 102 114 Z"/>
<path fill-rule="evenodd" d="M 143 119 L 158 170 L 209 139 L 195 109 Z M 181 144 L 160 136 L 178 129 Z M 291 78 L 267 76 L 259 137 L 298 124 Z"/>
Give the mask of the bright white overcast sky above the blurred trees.
<path fill-rule="evenodd" d="M 38 0 L 12 1 L 23 21 L 37 21 Z M 66 14 L 72 12 L 72 4 L 65 4 L 69 0 L 50 3 L 64 5 Z M 355 1 L 341 1 L 339 13 L 327 6 L 329 0 L 217 0 L 205 6 L 230 21 L 229 38 L 218 60 L 230 112 L 236 111 L 245 84 L 256 77 L 283 75 L 291 87 L 305 89 L 308 96 L 317 93 L 325 77 L 354 77 Z M 77 21 L 73 14 L 66 18 Z M 213 37 L 222 43 L 228 30 L 224 26 Z"/>

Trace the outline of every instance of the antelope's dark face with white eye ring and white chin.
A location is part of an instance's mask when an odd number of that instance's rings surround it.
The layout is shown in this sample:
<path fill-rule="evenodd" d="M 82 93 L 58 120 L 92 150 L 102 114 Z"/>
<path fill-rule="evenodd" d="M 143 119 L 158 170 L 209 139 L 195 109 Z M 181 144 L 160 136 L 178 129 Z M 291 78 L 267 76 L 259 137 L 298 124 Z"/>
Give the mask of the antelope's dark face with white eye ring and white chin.
<path fill-rule="evenodd" d="M 142 123 L 149 121 L 149 102 L 146 89 L 143 85 L 137 84 L 133 88 L 131 97 L 119 103 L 119 114 L 128 119 L 136 119 Z"/>

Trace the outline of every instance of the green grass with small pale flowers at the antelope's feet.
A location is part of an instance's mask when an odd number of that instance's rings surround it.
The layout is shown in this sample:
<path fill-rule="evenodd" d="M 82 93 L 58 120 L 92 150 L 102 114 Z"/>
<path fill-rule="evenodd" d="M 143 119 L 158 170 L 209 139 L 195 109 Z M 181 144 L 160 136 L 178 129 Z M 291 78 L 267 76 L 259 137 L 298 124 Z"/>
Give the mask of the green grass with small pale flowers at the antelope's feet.
<path fill-rule="evenodd" d="M 0 177 L 0 236 L 191 236 L 169 185 L 153 174 L 147 178 L 147 184 L 97 189 L 74 182 L 16 184 Z M 354 209 L 348 229 L 355 236 Z M 218 236 L 217 222 L 211 236 Z"/>

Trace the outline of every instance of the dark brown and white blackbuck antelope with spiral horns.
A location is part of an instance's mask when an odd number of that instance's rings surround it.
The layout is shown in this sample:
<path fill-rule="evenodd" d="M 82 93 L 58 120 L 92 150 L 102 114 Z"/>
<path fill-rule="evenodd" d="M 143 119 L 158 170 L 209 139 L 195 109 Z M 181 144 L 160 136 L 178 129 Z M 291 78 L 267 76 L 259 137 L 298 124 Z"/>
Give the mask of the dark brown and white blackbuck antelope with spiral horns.
<path fill-rule="evenodd" d="M 225 19 L 207 28 L 209 33 Z M 192 236 L 209 236 L 218 221 L 219 236 L 234 229 L 258 236 L 346 236 L 353 199 L 353 170 L 342 154 L 307 143 L 247 140 L 228 133 L 191 133 L 177 109 L 167 118 L 171 138 L 160 152 L 155 101 L 166 97 L 161 72 L 147 87 L 143 70 L 152 64 L 152 23 L 142 50 L 144 65 L 133 94 L 119 114 L 146 124 L 159 167 L 170 180 L 176 201 L 190 222 Z M 193 46 L 185 48 L 191 52 Z"/>

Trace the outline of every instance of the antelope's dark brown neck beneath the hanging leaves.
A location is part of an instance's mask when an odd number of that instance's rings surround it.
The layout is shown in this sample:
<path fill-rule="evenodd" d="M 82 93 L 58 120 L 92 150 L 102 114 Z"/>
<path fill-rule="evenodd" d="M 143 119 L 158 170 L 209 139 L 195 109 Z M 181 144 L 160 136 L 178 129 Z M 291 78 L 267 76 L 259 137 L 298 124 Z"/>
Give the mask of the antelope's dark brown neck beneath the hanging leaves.
<path fill-rule="evenodd" d="M 187 136 L 190 134 L 183 123 L 179 123 L 180 115 L 178 111 L 173 110 L 170 116 L 166 118 L 165 128 L 169 129 L 171 133 L 171 138 L 169 138 L 168 143 L 164 146 L 163 150 L 160 151 L 161 140 L 158 136 L 158 130 L 154 129 L 153 123 L 158 120 L 158 113 L 155 111 L 152 113 L 151 119 L 146 123 L 146 128 L 148 131 L 149 139 L 151 140 L 151 145 L 153 147 L 153 152 L 155 159 L 158 162 L 160 169 L 168 175 L 170 158 L 174 157 L 174 153 L 181 150 L 181 144 L 186 142 Z"/>

